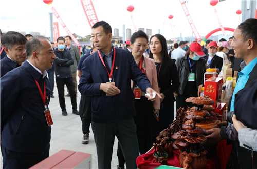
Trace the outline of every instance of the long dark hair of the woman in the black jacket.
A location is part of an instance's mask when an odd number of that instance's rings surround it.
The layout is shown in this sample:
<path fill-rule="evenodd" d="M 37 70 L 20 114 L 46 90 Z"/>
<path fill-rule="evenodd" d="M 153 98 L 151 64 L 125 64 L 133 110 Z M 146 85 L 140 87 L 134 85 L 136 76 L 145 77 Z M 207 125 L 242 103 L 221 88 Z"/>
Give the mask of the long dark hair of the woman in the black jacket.
<path fill-rule="evenodd" d="M 161 50 L 161 65 L 166 65 L 167 61 L 169 59 L 171 59 L 169 57 L 169 54 L 168 54 L 168 49 L 167 49 L 167 43 L 166 43 L 166 39 L 164 36 L 162 36 L 161 34 L 155 34 L 153 35 L 151 38 L 150 38 L 150 43 L 151 43 L 151 39 L 153 37 L 157 37 L 159 40 L 160 40 L 160 43 L 161 43 L 161 47 L 162 47 L 162 50 Z M 150 49 L 150 53 L 149 53 L 149 58 L 154 58 L 153 57 L 153 53 L 151 52 L 151 49 Z"/>

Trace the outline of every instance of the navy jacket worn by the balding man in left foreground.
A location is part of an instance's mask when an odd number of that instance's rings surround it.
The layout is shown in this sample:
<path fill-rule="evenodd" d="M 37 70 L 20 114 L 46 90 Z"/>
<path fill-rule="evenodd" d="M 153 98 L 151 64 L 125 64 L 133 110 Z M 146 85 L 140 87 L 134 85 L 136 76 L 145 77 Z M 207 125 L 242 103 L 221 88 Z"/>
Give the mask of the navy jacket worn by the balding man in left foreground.
<path fill-rule="evenodd" d="M 44 93 L 42 79 L 27 61 L 1 78 L 2 145 L 17 152 L 42 152 L 50 142 L 51 126 L 44 114 L 45 105 L 37 80 Z M 50 82 L 45 77 L 46 105 L 50 101 Z"/>

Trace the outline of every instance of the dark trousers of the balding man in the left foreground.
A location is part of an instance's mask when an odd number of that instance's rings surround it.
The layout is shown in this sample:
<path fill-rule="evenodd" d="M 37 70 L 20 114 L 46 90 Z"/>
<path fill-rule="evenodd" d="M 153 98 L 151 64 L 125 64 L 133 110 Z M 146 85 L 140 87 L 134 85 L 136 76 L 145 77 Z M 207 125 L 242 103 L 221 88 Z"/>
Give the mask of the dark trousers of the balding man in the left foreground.
<path fill-rule="evenodd" d="M 27 169 L 49 157 L 50 146 L 44 153 L 24 153 L 6 149 L 2 146 L 3 169 Z"/>

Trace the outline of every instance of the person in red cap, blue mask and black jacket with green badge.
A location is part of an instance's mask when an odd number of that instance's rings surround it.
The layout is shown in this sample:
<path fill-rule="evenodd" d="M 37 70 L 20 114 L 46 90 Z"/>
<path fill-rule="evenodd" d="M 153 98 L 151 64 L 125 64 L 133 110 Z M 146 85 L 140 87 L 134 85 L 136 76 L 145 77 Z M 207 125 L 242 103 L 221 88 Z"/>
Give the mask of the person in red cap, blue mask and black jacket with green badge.
<path fill-rule="evenodd" d="M 205 53 L 201 50 L 201 45 L 193 42 L 184 57 L 176 61 L 180 86 L 175 92 L 176 108 L 193 107 L 192 103 L 185 100 L 189 97 L 197 97 L 203 86 L 204 73 L 206 72 Z"/>

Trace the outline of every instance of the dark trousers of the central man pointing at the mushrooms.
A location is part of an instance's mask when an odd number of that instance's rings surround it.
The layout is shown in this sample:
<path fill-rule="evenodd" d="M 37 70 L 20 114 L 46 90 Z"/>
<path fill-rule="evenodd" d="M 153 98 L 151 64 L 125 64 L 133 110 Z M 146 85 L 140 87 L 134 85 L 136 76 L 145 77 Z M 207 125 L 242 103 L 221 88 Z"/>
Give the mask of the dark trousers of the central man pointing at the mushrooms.
<path fill-rule="evenodd" d="M 139 147 L 133 118 L 113 123 L 92 122 L 92 129 L 97 147 L 98 168 L 111 168 L 115 136 L 124 154 L 126 168 L 137 168 Z"/>

